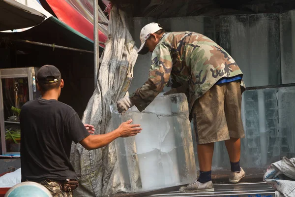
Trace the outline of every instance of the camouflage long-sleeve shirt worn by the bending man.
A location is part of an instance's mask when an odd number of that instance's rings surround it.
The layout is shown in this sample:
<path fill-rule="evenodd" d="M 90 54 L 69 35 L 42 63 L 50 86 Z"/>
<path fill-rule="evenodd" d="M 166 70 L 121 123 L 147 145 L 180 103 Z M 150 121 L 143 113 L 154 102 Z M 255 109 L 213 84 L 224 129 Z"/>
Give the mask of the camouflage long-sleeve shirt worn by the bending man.
<path fill-rule="evenodd" d="M 152 52 L 148 81 L 130 99 L 143 111 L 171 77 L 174 87 L 188 83 L 191 111 L 195 100 L 218 80 L 236 75 L 242 72 L 235 60 L 208 37 L 193 32 L 166 33 Z"/>

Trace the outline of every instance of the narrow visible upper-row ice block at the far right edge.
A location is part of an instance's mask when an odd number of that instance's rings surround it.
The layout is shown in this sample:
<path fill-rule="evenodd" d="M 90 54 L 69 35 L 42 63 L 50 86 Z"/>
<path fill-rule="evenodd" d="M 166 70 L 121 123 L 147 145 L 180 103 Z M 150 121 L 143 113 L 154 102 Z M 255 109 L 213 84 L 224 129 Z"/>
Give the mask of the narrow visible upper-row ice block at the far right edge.
<path fill-rule="evenodd" d="M 282 83 L 295 83 L 295 10 L 280 14 Z"/>

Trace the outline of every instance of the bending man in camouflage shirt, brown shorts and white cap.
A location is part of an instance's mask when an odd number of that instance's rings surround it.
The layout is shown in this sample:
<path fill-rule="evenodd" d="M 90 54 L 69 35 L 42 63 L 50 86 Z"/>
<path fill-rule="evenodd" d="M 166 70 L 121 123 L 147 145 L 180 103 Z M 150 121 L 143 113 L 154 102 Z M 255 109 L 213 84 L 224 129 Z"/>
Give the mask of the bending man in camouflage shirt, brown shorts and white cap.
<path fill-rule="evenodd" d="M 200 176 L 182 193 L 212 192 L 211 165 L 214 142 L 225 141 L 231 163 L 229 181 L 245 176 L 240 168 L 242 72 L 234 59 L 208 37 L 194 32 L 165 33 L 157 23 L 146 25 L 140 34 L 139 54 L 152 52 L 148 81 L 130 97 L 117 102 L 119 113 L 135 105 L 143 111 L 165 85 L 167 94 L 185 93 L 190 120 L 196 132 Z"/>

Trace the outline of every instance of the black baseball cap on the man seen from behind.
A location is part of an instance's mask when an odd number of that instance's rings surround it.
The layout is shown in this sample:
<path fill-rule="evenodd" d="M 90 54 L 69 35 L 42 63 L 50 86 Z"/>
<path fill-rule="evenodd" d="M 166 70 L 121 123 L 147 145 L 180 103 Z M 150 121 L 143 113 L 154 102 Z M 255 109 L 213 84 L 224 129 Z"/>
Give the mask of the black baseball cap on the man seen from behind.
<path fill-rule="evenodd" d="M 39 68 L 36 78 L 39 84 L 57 83 L 61 79 L 61 74 L 56 66 L 45 65 Z"/>

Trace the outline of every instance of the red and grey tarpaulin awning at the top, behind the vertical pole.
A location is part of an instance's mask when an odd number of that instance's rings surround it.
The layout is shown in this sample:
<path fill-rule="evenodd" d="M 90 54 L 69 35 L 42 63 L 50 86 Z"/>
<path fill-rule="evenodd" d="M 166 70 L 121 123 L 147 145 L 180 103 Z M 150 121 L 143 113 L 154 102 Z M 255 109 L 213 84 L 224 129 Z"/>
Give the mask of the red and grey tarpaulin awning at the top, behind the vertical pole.
<path fill-rule="evenodd" d="M 93 0 L 46 0 L 60 21 L 94 40 Z M 108 23 L 107 17 L 98 6 L 98 19 Z M 107 26 L 99 24 L 99 41 L 107 39 Z M 103 44 L 100 44 L 103 46 Z"/>

